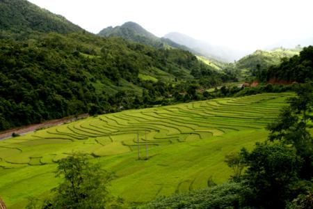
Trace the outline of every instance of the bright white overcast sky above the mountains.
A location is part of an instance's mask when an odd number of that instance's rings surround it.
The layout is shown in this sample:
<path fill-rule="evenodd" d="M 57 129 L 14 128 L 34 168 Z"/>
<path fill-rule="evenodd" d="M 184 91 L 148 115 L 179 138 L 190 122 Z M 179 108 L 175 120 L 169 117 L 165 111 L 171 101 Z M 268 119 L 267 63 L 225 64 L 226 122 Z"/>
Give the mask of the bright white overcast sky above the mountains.
<path fill-rule="evenodd" d="M 312 0 L 29 1 L 93 33 L 132 21 L 159 37 L 179 32 L 245 50 L 313 37 Z"/>

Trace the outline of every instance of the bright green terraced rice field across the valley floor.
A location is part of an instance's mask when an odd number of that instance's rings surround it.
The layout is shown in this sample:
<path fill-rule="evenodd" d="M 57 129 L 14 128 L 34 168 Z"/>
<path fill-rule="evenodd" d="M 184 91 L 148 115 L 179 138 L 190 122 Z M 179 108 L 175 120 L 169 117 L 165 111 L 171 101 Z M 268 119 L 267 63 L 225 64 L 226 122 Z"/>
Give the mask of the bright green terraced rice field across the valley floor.
<path fill-rule="evenodd" d="M 271 123 L 291 93 L 264 93 L 167 107 L 122 111 L 38 130 L 0 141 L 0 196 L 22 208 L 27 196 L 55 187 L 57 160 L 72 152 L 114 171 L 111 191 L 126 201 L 222 183 L 231 174 L 227 153 L 266 139 Z M 138 137 L 138 138 L 137 138 Z M 149 160 L 137 160 L 145 148 Z"/>

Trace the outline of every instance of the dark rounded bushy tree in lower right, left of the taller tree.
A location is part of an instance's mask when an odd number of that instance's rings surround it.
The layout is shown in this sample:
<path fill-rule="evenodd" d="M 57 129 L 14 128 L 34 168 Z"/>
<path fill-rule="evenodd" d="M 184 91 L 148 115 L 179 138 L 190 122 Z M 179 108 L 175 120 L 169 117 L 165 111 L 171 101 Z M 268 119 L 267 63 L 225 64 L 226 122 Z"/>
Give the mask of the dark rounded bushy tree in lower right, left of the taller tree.
<path fill-rule="evenodd" d="M 292 187 L 298 181 L 302 160 L 293 147 L 284 144 L 257 143 L 248 153 L 242 150 L 248 169 L 245 183 L 251 189 L 246 197 L 257 208 L 285 208 L 296 196 Z"/>

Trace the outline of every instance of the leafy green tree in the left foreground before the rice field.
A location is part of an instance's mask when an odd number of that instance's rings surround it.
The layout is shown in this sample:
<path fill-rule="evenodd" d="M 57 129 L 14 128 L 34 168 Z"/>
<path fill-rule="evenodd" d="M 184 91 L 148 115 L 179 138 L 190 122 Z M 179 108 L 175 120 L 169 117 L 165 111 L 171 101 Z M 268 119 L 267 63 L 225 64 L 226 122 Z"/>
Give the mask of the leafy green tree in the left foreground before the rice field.
<path fill-rule="evenodd" d="M 108 191 L 112 173 L 90 164 L 86 155 L 75 153 L 60 160 L 56 177 L 64 181 L 53 189 L 43 208 L 100 209 L 113 200 Z"/>

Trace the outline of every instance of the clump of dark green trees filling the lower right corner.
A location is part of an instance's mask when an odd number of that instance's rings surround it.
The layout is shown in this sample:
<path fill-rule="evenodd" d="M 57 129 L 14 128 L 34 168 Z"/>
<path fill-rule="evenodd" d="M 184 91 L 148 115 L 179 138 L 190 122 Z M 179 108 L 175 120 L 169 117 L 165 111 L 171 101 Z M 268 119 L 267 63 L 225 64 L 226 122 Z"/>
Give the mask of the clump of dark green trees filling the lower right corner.
<path fill-rule="evenodd" d="M 246 196 L 250 206 L 285 208 L 292 201 L 289 208 L 301 208 L 312 201 L 313 141 L 307 130 L 312 120 L 308 114 L 313 101 L 311 84 L 298 86 L 296 93 L 278 121 L 268 125 L 268 139 L 275 143 L 256 144 L 252 153 L 241 152 L 248 164 L 244 179 L 251 189 Z"/>

